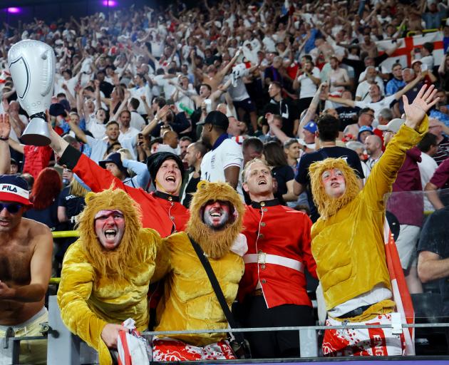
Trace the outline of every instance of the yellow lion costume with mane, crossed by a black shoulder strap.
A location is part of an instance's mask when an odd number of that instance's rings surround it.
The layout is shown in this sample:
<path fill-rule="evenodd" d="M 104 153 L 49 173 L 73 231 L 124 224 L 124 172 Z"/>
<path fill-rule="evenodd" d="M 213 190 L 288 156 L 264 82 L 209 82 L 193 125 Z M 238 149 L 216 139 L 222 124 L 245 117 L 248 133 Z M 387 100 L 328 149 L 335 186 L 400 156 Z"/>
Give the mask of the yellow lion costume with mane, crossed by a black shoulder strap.
<path fill-rule="evenodd" d="M 234 216 L 222 230 L 212 230 L 202 221 L 206 203 L 217 200 L 229 202 Z M 242 200 L 230 185 L 204 181 L 198 184 L 190 204 L 190 220 L 186 232 L 175 233 L 163 240 L 170 264 L 166 269 L 165 292 L 158 306 L 155 331 L 227 328 L 227 319 L 188 235 L 207 255 L 230 307 L 244 272 L 242 257 L 231 250 L 242 231 L 243 214 Z M 170 337 L 187 344 L 205 346 L 225 339 L 226 334 L 183 334 Z"/>

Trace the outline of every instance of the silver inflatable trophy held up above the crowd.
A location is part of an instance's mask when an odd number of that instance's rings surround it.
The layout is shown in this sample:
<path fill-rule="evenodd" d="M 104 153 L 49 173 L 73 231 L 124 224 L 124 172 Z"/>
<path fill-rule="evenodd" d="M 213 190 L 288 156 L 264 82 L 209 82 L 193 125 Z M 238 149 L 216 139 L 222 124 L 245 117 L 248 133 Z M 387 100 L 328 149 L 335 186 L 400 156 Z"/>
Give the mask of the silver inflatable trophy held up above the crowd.
<path fill-rule="evenodd" d="M 53 48 L 40 41 L 20 41 L 9 50 L 8 66 L 17 98 L 30 117 L 21 136 L 26 145 L 50 144 L 45 112 L 53 96 L 55 63 Z"/>

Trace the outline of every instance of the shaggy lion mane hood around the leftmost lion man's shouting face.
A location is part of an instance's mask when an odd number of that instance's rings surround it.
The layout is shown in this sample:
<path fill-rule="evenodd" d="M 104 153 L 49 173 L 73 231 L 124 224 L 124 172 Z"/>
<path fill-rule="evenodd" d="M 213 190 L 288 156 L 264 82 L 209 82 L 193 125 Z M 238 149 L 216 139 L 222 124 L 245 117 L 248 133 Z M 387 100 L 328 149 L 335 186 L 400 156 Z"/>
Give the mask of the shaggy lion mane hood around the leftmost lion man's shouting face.
<path fill-rule="evenodd" d="M 94 217 L 100 210 L 120 210 L 125 217 L 125 232 L 115 250 L 105 250 L 98 242 Z M 135 242 L 142 227 L 140 218 L 140 207 L 123 190 L 110 187 L 102 192 L 88 192 L 86 207 L 78 216 L 78 231 L 83 251 L 100 274 L 123 279 L 127 270 L 133 267 L 133 260 L 139 256 Z"/>

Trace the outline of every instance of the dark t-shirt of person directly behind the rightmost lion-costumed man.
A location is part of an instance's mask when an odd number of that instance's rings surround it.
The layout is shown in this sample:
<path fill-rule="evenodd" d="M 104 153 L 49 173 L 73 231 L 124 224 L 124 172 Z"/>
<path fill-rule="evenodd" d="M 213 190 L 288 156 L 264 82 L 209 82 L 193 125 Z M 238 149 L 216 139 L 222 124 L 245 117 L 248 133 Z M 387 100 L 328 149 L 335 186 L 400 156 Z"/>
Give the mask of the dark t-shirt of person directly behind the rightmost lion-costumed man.
<path fill-rule="evenodd" d="M 306 187 L 307 199 L 309 200 L 309 207 L 311 212 L 312 222 L 316 222 L 319 218 L 318 210 L 314 204 L 314 199 L 311 195 L 311 186 L 309 178 L 309 166 L 316 161 L 322 161 L 326 158 L 344 158 L 351 168 L 356 170 L 358 178 L 365 178 L 361 167 L 360 158 L 355 151 L 345 147 L 325 147 L 312 153 L 306 153 L 299 160 L 298 173 L 294 177 L 296 182 Z"/>

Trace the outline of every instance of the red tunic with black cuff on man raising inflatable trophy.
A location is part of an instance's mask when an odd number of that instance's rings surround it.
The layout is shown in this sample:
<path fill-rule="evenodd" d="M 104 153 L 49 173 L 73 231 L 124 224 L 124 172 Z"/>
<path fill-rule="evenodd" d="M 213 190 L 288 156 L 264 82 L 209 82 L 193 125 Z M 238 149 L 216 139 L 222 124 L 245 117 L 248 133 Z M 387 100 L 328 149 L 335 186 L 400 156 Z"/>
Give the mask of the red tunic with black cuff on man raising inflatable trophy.
<path fill-rule="evenodd" d="M 108 189 L 112 183 L 115 187 L 125 190 L 142 209 L 142 225 L 144 228 L 157 230 L 161 237 L 167 237 L 172 232 L 185 229 L 189 212 L 184 205 L 180 204 L 179 197 L 164 194 L 163 192 L 152 192 L 148 194 L 141 188 L 124 185 L 120 179 L 103 168 L 100 168 L 90 158 L 80 153 L 76 148 L 68 146 L 59 160 L 61 165 L 73 170 L 93 192 Z"/>

